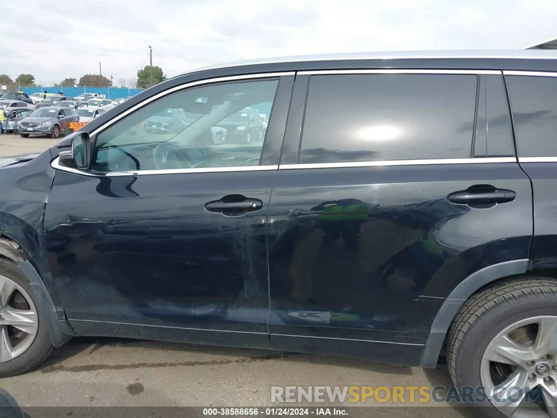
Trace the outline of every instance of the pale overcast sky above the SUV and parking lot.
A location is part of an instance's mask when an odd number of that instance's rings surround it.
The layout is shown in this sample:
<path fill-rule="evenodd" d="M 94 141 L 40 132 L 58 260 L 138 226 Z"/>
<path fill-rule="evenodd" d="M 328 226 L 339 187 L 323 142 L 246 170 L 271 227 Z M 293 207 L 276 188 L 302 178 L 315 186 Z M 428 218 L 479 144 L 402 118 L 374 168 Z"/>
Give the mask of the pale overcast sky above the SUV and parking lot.
<path fill-rule="evenodd" d="M 517 48 L 557 37 L 557 1 L 3 0 L 0 22 L 0 74 L 50 85 L 100 61 L 117 85 L 148 45 L 169 77 L 257 57 Z"/>

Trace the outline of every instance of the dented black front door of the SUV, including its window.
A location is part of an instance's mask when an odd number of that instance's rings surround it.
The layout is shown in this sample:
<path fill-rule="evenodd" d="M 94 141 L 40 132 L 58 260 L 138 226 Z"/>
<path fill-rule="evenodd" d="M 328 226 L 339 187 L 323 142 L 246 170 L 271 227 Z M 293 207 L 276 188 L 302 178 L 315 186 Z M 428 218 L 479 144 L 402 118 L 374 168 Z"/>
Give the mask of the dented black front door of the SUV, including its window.
<path fill-rule="evenodd" d="M 293 77 L 241 78 L 139 104 L 93 135 L 89 171 L 57 165 L 45 240 L 77 332 L 268 347 L 265 221 Z M 261 103 L 265 142 L 214 145 L 213 125 Z M 145 132 L 200 106 L 179 133 Z"/>

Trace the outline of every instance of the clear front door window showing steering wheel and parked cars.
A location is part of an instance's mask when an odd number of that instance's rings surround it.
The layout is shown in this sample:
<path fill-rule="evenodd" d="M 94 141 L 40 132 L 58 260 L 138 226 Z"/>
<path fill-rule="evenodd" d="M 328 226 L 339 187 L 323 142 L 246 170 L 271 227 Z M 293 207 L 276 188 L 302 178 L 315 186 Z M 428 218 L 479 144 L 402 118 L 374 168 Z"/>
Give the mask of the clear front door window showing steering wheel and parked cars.
<path fill-rule="evenodd" d="M 91 169 L 100 172 L 257 166 L 278 79 L 226 82 L 168 94 L 97 134 Z"/>

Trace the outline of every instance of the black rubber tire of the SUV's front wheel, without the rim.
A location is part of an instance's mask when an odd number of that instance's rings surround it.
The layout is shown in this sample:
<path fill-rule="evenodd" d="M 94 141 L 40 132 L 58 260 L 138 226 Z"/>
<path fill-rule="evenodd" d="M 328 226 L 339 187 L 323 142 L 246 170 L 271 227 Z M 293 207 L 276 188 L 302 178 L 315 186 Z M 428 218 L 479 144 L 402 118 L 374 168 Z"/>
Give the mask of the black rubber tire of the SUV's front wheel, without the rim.
<path fill-rule="evenodd" d="M 31 288 L 29 285 L 29 281 L 21 273 L 21 271 L 16 267 L 15 264 L 11 263 L 11 261 L 0 259 L 0 275 L 4 276 L 5 278 L 11 280 L 16 285 L 21 287 L 23 291 L 25 291 L 26 295 L 21 293 L 16 294 L 14 291 L 12 293 L 12 298 L 21 297 L 31 300 L 31 303 L 35 306 L 37 320 L 38 320 L 38 328 L 35 334 L 35 338 L 32 339 L 31 345 L 17 357 L 14 357 L 11 360 L 0 362 L 0 377 L 9 377 L 9 376 L 16 376 L 20 375 L 21 373 L 25 373 L 32 368 L 38 366 L 38 364 L 45 361 L 45 359 L 50 356 L 52 353 L 52 344 L 50 342 L 50 338 L 48 338 L 48 334 L 46 332 L 46 327 L 44 322 L 40 318 L 40 314 L 38 313 L 37 304 L 35 300 L 32 298 Z M 16 289 L 17 290 L 17 289 Z M 8 300 L 16 300 L 16 299 L 8 299 Z M 21 298 L 19 299 L 21 301 Z M 13 303 L 13 302 L 12 302 Z M 0 324 L 3 321 L 0 321 Z M 16 346 L 17 347 L 17 346 Z"/>

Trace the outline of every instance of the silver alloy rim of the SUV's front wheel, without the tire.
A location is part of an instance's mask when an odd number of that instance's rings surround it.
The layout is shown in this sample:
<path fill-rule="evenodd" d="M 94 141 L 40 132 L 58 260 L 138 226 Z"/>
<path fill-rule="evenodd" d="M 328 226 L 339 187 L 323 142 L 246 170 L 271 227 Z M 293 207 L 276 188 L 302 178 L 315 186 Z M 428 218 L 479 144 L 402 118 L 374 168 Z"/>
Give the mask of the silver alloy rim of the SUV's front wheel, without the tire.
<path fill-rule="evenodd" d="M 0 363 L 25 353 L 37 331 L 35 304 L 15 281 L 0 275 Z"/>

